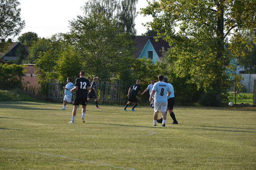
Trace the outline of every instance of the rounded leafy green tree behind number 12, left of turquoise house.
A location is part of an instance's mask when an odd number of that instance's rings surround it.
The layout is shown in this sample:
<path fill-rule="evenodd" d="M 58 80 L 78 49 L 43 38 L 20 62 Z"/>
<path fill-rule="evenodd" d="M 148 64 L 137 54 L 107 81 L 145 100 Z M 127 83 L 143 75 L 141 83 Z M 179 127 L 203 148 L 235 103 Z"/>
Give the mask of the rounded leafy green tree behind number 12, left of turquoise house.
<path fill-rule="evenodd" d="M 107 19 L 103 14 L 78 16 L 70 22 L 70 28 L 64 38 L 83 58 L 87 75 L 109 79 L 120 71 L 120 65 L 125 65 L 123 60 L 133 56 L 131 36 L 120 32 L 118 22 Z"/>

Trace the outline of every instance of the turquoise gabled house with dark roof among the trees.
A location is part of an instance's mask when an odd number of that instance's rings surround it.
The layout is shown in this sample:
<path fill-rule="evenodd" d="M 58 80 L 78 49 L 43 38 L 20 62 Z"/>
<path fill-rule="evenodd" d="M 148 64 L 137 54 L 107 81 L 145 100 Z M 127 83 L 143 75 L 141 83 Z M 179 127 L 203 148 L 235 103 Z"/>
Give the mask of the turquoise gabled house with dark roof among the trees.
<path fill-rule="evenodd" d="M 162 57 L 162 50 L 165 51 L 169 48 L 169 43 L 159 39 L 156 41 L 153 36 L 136 36 L 136 51 L 135 57 L 138 59 L 147 58 L 152 59 L 156 63 Z"/>

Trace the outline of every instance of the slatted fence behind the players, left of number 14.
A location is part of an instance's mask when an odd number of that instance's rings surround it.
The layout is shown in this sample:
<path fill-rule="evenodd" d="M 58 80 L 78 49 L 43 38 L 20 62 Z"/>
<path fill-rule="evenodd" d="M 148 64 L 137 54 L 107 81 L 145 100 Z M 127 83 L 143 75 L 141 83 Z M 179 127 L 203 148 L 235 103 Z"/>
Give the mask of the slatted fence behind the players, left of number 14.
<path fill-rule="evenodd" d="M 47 88 L 47 100 L 61 102 L 64 98 L 62 83 L 49 83 Z M 127 98 L 122 97 L 123 84 L 120 81 L 101 81 L 97 84 L 97 95 L 100 103 L 124 103 Z M 74 98 L 73 94 L 73 98 Z"/>

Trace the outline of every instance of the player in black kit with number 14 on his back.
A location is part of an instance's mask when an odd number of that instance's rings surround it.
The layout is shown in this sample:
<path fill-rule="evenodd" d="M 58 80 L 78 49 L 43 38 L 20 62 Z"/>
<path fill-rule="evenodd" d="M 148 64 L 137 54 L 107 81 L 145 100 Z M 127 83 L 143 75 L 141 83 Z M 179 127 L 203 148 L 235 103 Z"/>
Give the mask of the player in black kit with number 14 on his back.
<path fill-rule="evenodd" d="M 124 107 L 124 111 L 127 111 L 126 108 L 133 102 L 135 103 L 131 109 L 131 111 L 135 111 L 134 108 L 138 105 L 138 99 L 137 99 L 137 95 L 140 94 L 140 80 L 136 81 L 136 84 L 132 85 L 129 88 L 128 91 L 128 103 L 125 105 Z"/>

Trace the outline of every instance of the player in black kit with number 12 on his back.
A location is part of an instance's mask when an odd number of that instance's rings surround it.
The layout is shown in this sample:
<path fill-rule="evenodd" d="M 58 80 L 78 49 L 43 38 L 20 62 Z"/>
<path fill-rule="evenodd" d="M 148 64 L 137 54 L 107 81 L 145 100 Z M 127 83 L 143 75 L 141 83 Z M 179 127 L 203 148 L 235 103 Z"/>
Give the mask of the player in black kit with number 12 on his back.
<path fill-rule="evenodd" d="M 83 120 L 83 123 L 85 123 L 84 116 L 86 112 L 87 93 L 91 89 L 90 87 L 91 83 L 88 79 L 84 77 L 84 75 L 85 75 L 85 72 L 80 71 L 80 78 L 75 80 L 74 88 L 70 90 L 70 92 L 76 91 L 75 93 L 76 95 L 73 103 L 74 108 L 72 112 L 72 120 L 69 123 L 74 123 L 74 117 L 76 115 L 76 110 L 78 109 L 79 104 L 82 104 L 82 107 L 83 107 L 82 120 Z"/>

